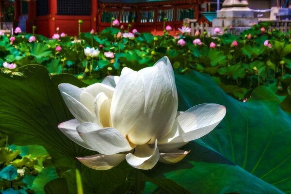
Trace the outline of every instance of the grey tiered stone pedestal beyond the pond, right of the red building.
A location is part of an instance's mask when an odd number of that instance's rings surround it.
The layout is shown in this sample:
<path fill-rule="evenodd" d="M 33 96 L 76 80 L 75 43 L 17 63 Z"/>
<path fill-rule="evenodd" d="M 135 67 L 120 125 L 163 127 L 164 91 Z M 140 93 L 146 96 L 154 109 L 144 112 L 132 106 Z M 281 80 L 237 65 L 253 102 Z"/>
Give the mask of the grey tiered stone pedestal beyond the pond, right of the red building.
<path fill-rule="evenodd" d="M 217 11 L 217 18 L 212 21 L 211 35 L 216 27 L 224 28 L 232 26 L 232 31 L 242 32 L 251 27 L 254 23 L 258 23 L 258 18 L 254 17 L 254 11 L 247 7 L 246 0 L 225 0 L 222 9 Z"/>

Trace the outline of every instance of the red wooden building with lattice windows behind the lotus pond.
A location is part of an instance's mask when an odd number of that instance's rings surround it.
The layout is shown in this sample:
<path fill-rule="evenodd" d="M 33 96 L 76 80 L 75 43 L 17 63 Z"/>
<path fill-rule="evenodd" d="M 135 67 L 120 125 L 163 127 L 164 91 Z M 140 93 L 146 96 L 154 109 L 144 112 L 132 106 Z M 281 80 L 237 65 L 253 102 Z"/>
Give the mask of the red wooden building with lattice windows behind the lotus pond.
<path fill-rule="evenodd" d="M 161 34 L 163 18 L 175 34 L 184 18 L 198 19 L 200 5 L 209 0 L 15 0 L 16 22 L 24 22 L 26 32 L 51 36 L 57 27 L 69 35 L 78 34 L 78 20 L 83 20 L 82 32 L 100 32 L 117 18 L 127 29 L 128 24 L 139 32 Z M 26 8 L 27 10 L 25 10 Z"/>

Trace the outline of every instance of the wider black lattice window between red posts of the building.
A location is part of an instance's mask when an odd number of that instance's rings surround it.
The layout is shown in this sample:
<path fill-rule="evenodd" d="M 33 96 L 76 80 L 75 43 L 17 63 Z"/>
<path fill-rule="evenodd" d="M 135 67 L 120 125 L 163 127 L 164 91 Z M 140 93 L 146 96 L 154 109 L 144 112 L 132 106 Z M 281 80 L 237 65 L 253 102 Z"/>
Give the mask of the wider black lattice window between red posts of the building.
<path fill-rule="evenodd" d="M 91 0 L 58 0 L 58 15 L 90 16 Z"/>

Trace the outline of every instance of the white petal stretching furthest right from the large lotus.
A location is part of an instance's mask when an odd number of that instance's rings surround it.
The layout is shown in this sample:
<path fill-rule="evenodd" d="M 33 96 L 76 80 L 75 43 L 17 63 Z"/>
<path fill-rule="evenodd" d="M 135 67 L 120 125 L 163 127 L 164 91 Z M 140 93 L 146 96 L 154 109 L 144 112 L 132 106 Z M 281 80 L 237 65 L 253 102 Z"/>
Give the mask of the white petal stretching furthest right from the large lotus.
<path fill-rule="evenodd" d="M 198 139 L 214 129 L 226 115 L 226 107 L 219 104 L 199 104 L 181 113 L 172 131 L 160 144 L 180 144 Z"/>

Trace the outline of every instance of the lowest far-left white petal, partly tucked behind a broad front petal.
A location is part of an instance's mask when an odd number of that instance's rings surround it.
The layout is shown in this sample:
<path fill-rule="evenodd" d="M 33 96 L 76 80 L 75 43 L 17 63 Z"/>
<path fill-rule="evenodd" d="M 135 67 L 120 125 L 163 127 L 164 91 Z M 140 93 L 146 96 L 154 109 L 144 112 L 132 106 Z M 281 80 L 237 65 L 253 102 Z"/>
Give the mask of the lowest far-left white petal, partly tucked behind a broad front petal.
<path fill-rule="evenodd" d="M 80 123 L 77 121 L 77 119 L 72 119 L 65 121 L 63 123 L 60 123 L 58 125 L 58 128 L 68 137 L 70 140 L 74 141 L 75 143 L 79 144 L 80 146 L 83 146 L 87 149 L 92 148 L 88 146 L 80 137 L 77 126 L 80 125 Z"/>

